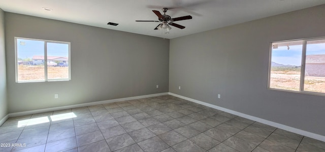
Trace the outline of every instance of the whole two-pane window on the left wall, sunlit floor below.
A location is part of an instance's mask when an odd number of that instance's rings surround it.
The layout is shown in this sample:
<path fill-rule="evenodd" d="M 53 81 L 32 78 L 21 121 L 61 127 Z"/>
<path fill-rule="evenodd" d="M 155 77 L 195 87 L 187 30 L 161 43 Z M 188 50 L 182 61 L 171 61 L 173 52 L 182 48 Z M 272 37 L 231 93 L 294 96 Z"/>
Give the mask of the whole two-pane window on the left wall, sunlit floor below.
<path fill-rule="evenodd" d="M 16 82 L 70 80 L 70 42 L 15 38 Z"/>

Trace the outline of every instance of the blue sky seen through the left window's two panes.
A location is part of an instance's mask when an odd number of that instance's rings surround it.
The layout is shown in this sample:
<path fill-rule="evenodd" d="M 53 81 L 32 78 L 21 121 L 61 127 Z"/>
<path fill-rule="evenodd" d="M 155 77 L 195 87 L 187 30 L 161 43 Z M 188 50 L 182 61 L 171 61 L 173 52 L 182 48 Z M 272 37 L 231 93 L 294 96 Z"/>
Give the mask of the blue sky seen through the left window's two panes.
<path fill-rule="evenodd" d="M 21 45 L 20 42 L 25 42 Z M 44 55 L 44 42 L 37 40 L 17 39 L 18 58 L 32 58 L 34 55 Z M 47 43 L 48 56 L 68 57 L 69 45 L 60 43 Z"/>

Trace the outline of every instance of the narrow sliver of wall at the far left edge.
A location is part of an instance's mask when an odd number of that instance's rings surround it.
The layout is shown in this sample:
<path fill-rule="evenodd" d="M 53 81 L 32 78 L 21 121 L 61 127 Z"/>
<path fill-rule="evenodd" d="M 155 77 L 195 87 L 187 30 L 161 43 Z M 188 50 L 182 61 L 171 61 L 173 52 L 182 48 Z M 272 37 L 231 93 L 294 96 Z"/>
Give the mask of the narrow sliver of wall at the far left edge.
<path fill-rule="evenodd" d="M 8 114 L 4 20 L 5 13 L 0 9 L 0 120 Z"/>

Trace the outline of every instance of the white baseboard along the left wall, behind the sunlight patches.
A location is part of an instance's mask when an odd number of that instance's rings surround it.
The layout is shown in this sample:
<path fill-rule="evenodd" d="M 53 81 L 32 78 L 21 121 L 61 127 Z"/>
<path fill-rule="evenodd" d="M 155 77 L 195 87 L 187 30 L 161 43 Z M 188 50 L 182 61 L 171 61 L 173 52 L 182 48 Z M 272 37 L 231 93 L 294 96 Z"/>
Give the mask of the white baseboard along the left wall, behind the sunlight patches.
<path fill-rule="evenodd" d="M 104 101 L 97 101 L 97 102 L 90 102 L 90 103 L 83 103 L 83 104 L 76 104 L 76 105 L 69 105 L 69 106 L 62 106 L 62 107 L 54 107 L 54 108 L 38 109 L 38 110 L 31 110 L 31 111 L 15 112 L 15 113 L 9 113 L 8 115 L 9 115 L 9 117 L 16 117 L 16 116 L 23 116 L 23 115 L 29 115 L 29 114 L 51 112 L 51 111 L 65 110 L 65 109 L 72 109 L 72 108 L 80 108 L 80 107 L 85 107 L 85 106 L 93 106 L 93 105 L 107 104 L 107 103 L 112 103 L 112 102 L 134 100 L 134 99 L 141 99 L 141 98 L 149 98 L 149 97 L 156 97 L 156 96 L 163 96 L 163 95 L 168 95 L 168 93 L 151 94 L 151 95 L 119 98 L 119 99 L 112 99 L 112 100 L 104 100 Z"/>

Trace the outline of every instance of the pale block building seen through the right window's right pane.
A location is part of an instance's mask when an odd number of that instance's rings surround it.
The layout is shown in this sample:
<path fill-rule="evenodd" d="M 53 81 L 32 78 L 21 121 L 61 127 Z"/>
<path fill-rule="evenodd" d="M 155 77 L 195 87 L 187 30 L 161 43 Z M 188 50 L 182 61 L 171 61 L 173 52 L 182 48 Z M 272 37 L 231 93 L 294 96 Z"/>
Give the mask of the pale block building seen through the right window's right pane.
<path fill-rule="evenodd" d="M 306 76 L 325 77 L 325 54 L 306 55 Z"/>

